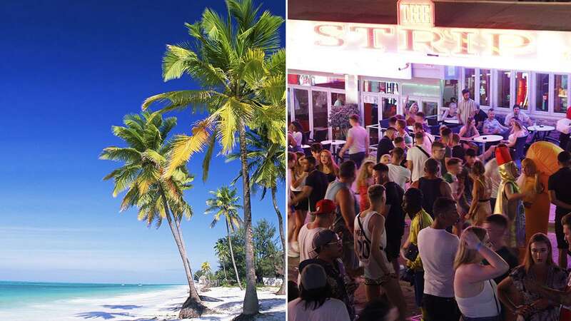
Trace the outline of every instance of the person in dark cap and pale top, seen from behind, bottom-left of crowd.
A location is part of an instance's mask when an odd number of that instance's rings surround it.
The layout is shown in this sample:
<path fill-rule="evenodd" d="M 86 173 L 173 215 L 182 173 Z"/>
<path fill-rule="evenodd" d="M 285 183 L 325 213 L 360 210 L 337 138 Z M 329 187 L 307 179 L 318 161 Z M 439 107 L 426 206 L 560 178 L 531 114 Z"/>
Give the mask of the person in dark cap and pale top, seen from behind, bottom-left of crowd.
<path fill-rule="evenodd" d="M 289 321 L 349 321 L 345 304 L 331 297 L 321 265 L 309 264 L 301 272 L 300 297 L 288 303 Z"/>

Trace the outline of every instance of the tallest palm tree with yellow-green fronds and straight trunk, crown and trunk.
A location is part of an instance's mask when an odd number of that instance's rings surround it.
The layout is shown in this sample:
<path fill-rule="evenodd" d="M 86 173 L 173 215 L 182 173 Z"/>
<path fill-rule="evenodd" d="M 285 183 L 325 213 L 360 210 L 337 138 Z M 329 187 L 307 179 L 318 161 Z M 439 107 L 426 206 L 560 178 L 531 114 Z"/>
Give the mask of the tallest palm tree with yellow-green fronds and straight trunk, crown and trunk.
<path fill-rule="evenodd" d="M 203 161 L 206 180 L 216 141 L 221 144 L 222 153 L 228 154 L 236 145 L 238 133 L 242 170 L 246 173 L 242 182 L 247 281 L 243 315 L 255 315 L 259 302 L 253 265 L 246 132 L 248 128 L 268 128 L 268 138 L 285 146 L 285 51 L 279 49 L 278 34 L 283 18 L 268 11 L 258 15 L 260 8 L 255 8 L 251 0 L 226 0 L 226 6 L 227 19 L 206 9 L 200 21 L 186 24 L 196 45 L 168 45 L 163 57 L 165 81 L 188 74 L 203 89 L 160 93 L 147 98 L 142 108 L 166 102 L 163 112 L 191 106 L 193 111 L 209 113 L 193 126 L 191 136 L 177 136 L 173 141 L 168 170 L 163 173 L 167 177 L 193 153 L 208 146 Z"/>

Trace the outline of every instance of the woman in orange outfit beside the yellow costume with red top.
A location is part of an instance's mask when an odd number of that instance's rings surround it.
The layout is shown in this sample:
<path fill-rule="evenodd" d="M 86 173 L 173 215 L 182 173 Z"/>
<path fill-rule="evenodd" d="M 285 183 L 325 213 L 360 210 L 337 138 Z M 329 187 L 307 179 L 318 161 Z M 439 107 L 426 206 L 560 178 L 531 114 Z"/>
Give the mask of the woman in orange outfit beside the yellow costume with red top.
<path fill-rule="evenodd" d="M 547 235 L 550 201 L 542 175 L 531 158 L 522 161 L 522 175 L 517 179 L 517 185 L 522 193 L 527 194 L 523 198 L 526 243 L 535 233 Z"/>

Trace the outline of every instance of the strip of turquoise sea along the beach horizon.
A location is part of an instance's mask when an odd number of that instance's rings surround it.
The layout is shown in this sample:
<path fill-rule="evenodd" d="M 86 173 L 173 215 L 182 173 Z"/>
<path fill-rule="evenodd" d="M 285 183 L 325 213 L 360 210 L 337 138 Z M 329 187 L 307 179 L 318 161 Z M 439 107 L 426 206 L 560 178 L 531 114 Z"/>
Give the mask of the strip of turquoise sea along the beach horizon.
<path fill-rule="evenodd" d="M 17 309 L 38 302 L 116 297 L 118 295 L 168 290 L 174 286 L 178 285 L 0 281 L 0 310 Z"/>

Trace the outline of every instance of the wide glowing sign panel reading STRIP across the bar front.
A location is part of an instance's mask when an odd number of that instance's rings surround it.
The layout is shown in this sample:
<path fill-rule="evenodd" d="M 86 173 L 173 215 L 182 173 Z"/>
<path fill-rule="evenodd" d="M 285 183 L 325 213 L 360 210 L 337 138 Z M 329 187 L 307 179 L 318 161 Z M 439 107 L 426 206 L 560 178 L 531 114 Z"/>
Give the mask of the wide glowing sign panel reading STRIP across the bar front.
<path fill-rule="evenodd" d="M 287 24 L 290 69 L 388 77 L 381 73 L 383 69 L 391 77 L 408 78 L 410 75 L 399 70 L 405 63 L 425 63 L 571 73 L 568 31 L 302 20 L 288 20 Z M 387 64 L 393 64 L 392 68 Z"/>

